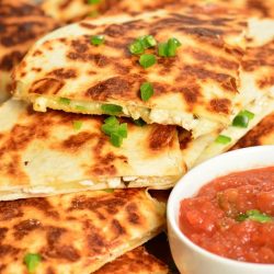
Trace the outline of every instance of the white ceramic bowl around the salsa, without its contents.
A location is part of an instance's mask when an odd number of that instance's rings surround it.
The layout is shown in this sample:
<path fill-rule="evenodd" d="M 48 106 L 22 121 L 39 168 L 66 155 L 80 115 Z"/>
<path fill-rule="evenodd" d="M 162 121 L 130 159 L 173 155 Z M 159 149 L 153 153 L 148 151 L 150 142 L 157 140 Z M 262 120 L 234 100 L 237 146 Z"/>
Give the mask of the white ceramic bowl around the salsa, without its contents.
<path fill-rule="evenodd" d="M 180 202 L 221 175 L 274 165 L 274 146 L 235 150 L 215 157 L 186 173 L 168 202 L 168 231 L 174 262 L 183 274 L 274 274 L 274 264 L 239 262 L 213 254 L 186 238 L 179 228 Z"/>

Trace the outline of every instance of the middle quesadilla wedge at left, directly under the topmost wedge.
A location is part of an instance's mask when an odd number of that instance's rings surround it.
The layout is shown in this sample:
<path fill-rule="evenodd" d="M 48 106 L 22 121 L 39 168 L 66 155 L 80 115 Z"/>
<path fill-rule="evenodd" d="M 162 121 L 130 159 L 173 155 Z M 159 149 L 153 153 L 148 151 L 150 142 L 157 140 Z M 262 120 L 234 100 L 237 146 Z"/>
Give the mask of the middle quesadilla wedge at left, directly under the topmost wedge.
<path fill-rule="evenodd" d="M 137 126 L 114 147 L 103 116 L 34 112 L 10 100 L 0 107 L 0 199 L 82 190 L 168 189 L 184 173 L 174 126 Z"/>

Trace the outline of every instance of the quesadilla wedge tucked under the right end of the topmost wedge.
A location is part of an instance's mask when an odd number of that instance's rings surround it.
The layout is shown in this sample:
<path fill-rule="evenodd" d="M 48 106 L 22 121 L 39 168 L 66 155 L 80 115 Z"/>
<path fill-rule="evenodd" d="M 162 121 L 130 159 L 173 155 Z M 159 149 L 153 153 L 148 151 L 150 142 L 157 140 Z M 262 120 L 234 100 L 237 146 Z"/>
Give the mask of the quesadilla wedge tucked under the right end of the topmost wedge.
<path fill-rule="evenodd" d="M 179 130 L 180 147 L 189 169 L 231 148 L 274 109 L 274 42 L 262 47 L 248 48 L 240 69 L 240 94 L 237 114 L 250 112 L 248 127 L 229 126 L 193 139 L 184 129 Z M 237 116 L 237 114 L 235 116 Z M 220 137 L 218 137 L 220 135 Z M 199 159 L 198 159 L 199 158 Z M 198 160 L 197 160 L 198 159 Z"/>

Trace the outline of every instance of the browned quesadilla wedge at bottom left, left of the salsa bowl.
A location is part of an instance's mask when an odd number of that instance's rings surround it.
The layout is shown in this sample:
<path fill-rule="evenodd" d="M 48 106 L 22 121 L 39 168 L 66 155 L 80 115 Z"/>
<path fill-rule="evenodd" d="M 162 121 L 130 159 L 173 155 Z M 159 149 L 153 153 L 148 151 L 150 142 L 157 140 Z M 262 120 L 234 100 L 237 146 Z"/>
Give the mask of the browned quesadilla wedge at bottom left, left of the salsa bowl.
<path fill-rule="evenodd" d="M 164 213 L 141 189 L 0 202 L 0 270 L 27 273 L 35 255 L 35 273 L 90 274 L 158 235 Z"/>

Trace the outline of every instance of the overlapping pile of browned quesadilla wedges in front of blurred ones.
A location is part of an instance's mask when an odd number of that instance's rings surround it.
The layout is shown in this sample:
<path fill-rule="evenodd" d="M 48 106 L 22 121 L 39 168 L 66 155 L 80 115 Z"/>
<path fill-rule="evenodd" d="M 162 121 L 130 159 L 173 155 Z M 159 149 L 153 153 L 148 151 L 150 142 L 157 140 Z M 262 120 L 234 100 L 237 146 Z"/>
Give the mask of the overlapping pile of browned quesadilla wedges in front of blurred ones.
<path fill-rule="evenodd" d="M 274 144 L 256 129 L 273 121 L 273 34 L 203 7 L 85 19 L 14 68 L 0 105 L 0 273 L 168 273 L 141 247 L 165 225 L 167 201 L 148 190 L 246 137 Z"/>

